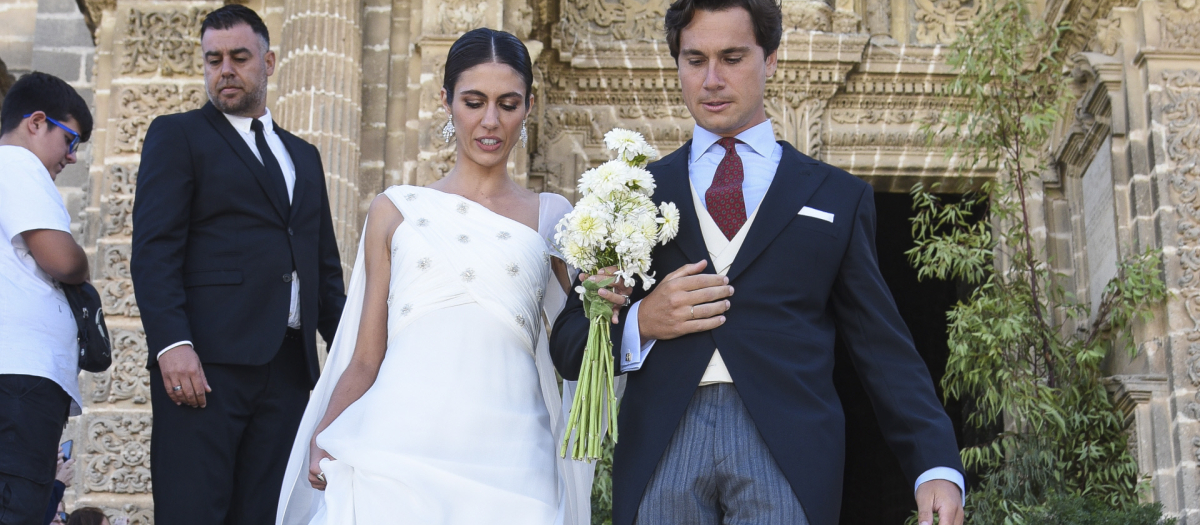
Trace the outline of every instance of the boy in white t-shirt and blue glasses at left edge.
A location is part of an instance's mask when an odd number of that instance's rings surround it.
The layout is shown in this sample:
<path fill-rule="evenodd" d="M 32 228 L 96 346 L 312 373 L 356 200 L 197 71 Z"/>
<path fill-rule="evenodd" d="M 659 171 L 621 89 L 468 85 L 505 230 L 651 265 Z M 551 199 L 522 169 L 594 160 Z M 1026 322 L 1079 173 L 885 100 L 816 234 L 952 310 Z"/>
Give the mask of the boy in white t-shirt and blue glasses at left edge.
<path fill-rule="evenodd" d="M 46 73 L 0 107 L 0 525 L 44 523 L 62 427 L 82 404 L 60 283 L 86 280 L 88 257 L 54 180 L 91 128 L 86 102 Z"/>

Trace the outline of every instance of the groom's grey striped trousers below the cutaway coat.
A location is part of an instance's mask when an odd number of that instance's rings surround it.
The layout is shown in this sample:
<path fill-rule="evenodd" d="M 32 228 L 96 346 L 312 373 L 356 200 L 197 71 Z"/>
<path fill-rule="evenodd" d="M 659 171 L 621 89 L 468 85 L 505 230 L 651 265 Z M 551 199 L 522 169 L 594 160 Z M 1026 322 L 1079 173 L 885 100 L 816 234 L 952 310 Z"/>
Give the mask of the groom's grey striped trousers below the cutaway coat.
<path fill-rule="evenodd" d="M 637 525 L 808 525 L 732 384 L 696 390 L 637 507 Z"/>

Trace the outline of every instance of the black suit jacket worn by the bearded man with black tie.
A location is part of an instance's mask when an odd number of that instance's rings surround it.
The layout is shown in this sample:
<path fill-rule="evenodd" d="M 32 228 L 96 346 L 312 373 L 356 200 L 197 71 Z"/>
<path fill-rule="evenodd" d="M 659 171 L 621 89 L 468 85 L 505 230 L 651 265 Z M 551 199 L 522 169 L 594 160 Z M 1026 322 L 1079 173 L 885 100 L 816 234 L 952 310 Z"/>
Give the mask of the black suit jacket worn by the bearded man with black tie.
<path fill-rule="evenodd" d="M 283 180 L 211 103 L 160 116 L 146 131 L 130 266 L 148 367 L 180 340 L 191 340 L 203 363 L 270 362 L 287 330 L 295 270 L 316 384 L 316 332 L 332 340 L 346 303 L 342 265 L 320 153 L 275 132 L 295 165 L 290 205 Z"/>

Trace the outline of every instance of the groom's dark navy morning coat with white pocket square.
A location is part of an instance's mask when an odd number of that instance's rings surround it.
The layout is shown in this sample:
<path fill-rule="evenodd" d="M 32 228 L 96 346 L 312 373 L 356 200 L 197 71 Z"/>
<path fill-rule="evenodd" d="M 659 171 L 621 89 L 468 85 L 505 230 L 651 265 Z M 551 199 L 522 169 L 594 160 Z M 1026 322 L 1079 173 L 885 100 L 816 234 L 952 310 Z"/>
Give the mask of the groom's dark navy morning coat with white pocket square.
<path fill-rule="evenodd" d="M 726 322 L 656 342 L 642 368 L 628 374 L 613 463 L 614 525 L 634 523 L 713 349 L 721 350 L 814 525 L 836 524 L 841 502 L 845 415 L 833 382 L 835 336 L 844 338 L 910 481 L 935 466 L 962 470 L 950 421 L 878 271 L 871 187 L 781 144 L 779 171 L 727 273 L 737 291 Z M 660 277 L 708 259 L 688 182 L 690 147 L 649 165 L 654 201 L 672 201 L 680 212 L 679 235 L 654 251 L 652 271 Z M 804 206 L 834 221 L 797 215 Z M 706 272 L 713 272 L 708 262 Z M 638 288 L 634 300 L 644 296 Z M 587 331 L 580 298 L 570 294 L 550 342 L 566 379 L 578 375 Z M 622 326 L 613 326 L 614 351 L 620 339 Z"/>

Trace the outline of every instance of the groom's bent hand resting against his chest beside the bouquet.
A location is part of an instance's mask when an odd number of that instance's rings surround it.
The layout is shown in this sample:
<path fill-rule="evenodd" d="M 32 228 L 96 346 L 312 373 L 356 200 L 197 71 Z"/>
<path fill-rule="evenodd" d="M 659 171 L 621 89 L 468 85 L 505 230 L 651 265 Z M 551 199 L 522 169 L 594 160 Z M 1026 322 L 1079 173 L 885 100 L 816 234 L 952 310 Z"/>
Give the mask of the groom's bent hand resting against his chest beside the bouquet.
<path fill-rule="evenodd" d="M 707 260 L 683 265 L 662 278 L 637 310 L 642 344 L 721 326 L 733 286 L 725 276 L 701 273 Z"/>

